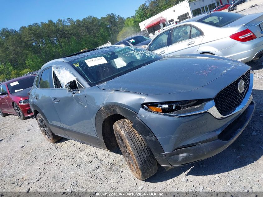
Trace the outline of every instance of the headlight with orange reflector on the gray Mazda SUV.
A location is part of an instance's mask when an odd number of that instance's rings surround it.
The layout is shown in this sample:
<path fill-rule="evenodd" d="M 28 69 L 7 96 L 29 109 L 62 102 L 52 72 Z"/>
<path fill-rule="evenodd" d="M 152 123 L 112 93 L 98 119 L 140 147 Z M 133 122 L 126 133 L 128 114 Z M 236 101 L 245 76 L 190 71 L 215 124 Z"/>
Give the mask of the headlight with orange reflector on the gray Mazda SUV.
<path fill-rule="evenodd" d="M 157 112 L 157 113 L 165 113 L 165 114 L 174 114 L 176 111 L 184 110 L 191 106 L 196 106 L 200 104 L 198 100 L 190 100 L 190 101 L 177 101 L 177 102 L 165 102 L 165 103 L 151 103 L 144 104 L 144 108 L 146 110 Z"/>

